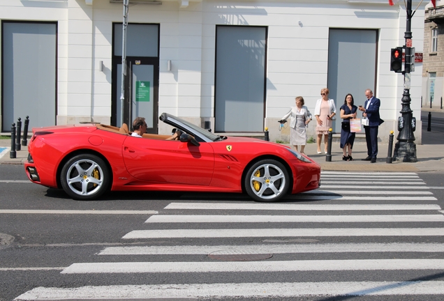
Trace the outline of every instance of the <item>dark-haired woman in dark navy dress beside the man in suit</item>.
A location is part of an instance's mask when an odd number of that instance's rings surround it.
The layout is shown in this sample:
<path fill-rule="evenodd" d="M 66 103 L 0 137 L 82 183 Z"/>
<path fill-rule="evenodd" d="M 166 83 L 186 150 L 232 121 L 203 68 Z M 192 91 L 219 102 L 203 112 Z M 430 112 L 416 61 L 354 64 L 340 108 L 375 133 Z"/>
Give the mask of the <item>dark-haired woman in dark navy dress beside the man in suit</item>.
<path fill-rule="evenodd" d="M 341 118 L 343 118 L 343 121 L 340 147 L 342 148 L 342 160 L 344 161 L 353 161 L 351 153 L 353 142 L 355 142 L 355 133 L 350 132 L 350 119 L 356 118 L 357 107 L 354 103 L 353 95 L 348 93 L 346 95 L 346 100 L 344 100 L 343 105 L 341 106 Z"/>

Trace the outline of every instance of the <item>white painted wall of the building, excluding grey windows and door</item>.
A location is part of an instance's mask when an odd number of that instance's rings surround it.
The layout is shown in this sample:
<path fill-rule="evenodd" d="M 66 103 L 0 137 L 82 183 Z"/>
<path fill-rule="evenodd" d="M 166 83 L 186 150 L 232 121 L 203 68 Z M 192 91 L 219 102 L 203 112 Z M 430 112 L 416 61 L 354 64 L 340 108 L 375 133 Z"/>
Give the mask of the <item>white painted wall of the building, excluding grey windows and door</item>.
<path fill-rule="evenodd" d="M 112 22 L 122 21 L 122 4 L 108 0 L 89 3 L 0 2 L 0 20 L 58 22 L 59 124 L 110 123 Z M 414 0 L 413 8 L 419 3 Z M 422 52 L 427 3 L 421 4 L 412 20 L 417 52 Z M 390 130 L 397 130 L 404 78 L 390 71 L 390 49 L 404 45 L 406 11 L 402 1 L 400 6 L 389 6 L 386 0 L 203 0 L 190 1 L 184 8 L 179 2 L 164 1 L 161 6 L 131 4 L 128 21 L 161 24 L 158 111 L 195 123 L 214 117 L 216 24 L 268 26 L 265 126 L 272 139 L 279 137 L 276 121 L 294 105 L 295 96 L 304 96 L 314 111 L 320 88 L 327 86 L 329 28 L 378 29 L 376 96 L 381 99 L 381 118 L 386 121 L 380 137 L 384 140 Z M 171 71 L 167 70 L 168 60 L 172 61 Z M 98 70 L 99 61 L 103 61 L 103 71 Z M 421 77 L 422 64 L 417 63 L 410 95 L 413 116 L 418 120 Z M 364 91 L 355 98 L 364 98 Z M 315 126 L 311 123 L 309 134 Z"/>

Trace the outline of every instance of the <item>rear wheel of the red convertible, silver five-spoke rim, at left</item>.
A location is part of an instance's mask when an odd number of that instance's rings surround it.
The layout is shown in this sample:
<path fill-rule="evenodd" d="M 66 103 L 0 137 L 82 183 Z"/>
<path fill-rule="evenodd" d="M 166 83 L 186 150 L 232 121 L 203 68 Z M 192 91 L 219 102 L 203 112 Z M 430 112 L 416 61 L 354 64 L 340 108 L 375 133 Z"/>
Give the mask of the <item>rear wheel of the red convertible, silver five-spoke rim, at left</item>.
<path fill-rule="evenodd" d="M 97 199 L 108 190 L 109 184 L 108 165 L 96 155 L 76 155 L 61 169 L 61 186 L 73 199 Z"/>

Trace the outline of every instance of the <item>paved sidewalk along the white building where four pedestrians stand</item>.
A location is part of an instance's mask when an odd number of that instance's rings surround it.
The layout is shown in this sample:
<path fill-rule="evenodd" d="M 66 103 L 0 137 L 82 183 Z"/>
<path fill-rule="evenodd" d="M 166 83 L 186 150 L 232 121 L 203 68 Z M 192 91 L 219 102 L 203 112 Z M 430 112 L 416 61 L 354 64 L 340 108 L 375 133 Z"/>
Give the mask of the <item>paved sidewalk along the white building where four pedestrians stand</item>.
<path fill-rule="evenodd" d="M 396 140 L 394 143 L 396 143 Z M 1 148 L 8 148 L 8 150 L 1 153 Z M 0 153 L 3 154 L 3 156 L 0 157 L 0 164 L 23 164 L 27 160 L 27 146 L 21 146 L 22 150 L 16 151 L 15 159 L 10 159 L 9 148 L 10 140 L 0 139 Z M 307 144 L 305 147 L 306 155 L 318 162 L 321 169 L 325 171 L 444 171 L 444 141 L 443 144 L 417 145 L 417 162 L 415 163 L 386 163 L 388 144 L 379 143 L 378 151 L 379 155 L 376 163 L 362 161 L 361 159 L 367 157 L 367 145 L 364 142 L 355 142 L 352 154 L 354 160 L 343 161 L 342 150 L 339 148 L 339 141 L 333 142 L 332 161 L 326 162 L 326 155 L 324 153 L 320 155 L 316 153 L 316 143 Z"/>

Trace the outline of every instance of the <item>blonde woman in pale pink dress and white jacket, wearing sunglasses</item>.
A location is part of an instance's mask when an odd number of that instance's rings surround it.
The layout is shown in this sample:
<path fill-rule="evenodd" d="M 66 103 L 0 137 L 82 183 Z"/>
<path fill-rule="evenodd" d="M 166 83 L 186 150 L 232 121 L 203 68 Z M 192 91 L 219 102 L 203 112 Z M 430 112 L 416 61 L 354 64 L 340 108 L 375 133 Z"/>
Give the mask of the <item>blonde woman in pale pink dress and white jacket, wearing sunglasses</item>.
<path fill-rule="evenodd" d="M 324 153 L 327 153 L 327 141 L 328 141 L 328 129 L 332 128 L 332 118 L 336 115 L 336 106 L 334 105 L 334 100 L 328 98 L 330 91 L 328 88 L 323 88 L 320 90 L 320 98 L 316 102 L 315 107 L 315 117 L 318 122 L 316 125 L 316 134 L 318 135 L 316 142 L 318 143 L 318 153 L 320 151 L 320 142 L 324 136 Z"/>

